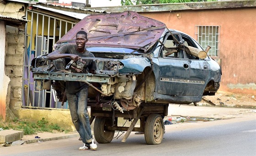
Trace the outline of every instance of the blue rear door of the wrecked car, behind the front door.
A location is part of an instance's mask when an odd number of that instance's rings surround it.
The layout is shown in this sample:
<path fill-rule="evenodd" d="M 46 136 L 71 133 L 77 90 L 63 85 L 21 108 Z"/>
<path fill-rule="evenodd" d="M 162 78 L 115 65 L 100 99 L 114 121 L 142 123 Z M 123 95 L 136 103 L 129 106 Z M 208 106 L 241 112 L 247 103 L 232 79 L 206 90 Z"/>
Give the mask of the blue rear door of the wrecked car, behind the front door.
<path fill-rule="evenodd" d="M 202 49 L 202 47 L 190 36 L 181 33 L 181 37 L 185 41 L 184 44 L 186 46 Z M 187 96 L 198 96 L 203 93 L 204 87 L 208 82 L 210 73 L 210 66 L 206 61 L 208 57 L 206 59 L 199 59 L 196 56 L 189 55 L 187 53 L 185 54 L 189 61 L 189 81 L 187 81 Z"/>

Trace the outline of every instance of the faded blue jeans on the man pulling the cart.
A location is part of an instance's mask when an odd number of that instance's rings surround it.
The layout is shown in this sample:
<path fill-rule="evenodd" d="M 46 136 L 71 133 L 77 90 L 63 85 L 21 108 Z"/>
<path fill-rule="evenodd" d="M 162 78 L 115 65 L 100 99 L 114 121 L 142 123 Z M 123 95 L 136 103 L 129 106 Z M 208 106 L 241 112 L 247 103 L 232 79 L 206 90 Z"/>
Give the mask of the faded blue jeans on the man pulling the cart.
<path fill-rule="evenodd" d="M 83 88 L 75 94 L 67 93 L 66 96 L 76 131 L 80 134 L 83 143 L 91 142 L 91 125 L 87 114 L 88 88 Z"/>

